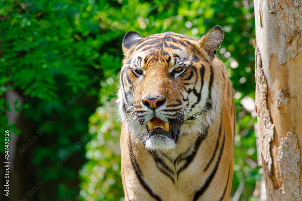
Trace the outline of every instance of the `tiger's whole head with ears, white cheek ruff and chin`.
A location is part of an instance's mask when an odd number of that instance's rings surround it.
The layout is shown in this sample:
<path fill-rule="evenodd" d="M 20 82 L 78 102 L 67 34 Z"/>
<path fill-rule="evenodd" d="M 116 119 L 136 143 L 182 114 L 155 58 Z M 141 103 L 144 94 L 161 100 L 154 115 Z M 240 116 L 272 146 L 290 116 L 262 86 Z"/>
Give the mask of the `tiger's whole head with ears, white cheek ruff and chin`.
<path fill-rule="evenodd" d="M 211 125 L 221 105 L 213 61 L 222 40 L 220 26 L 200 40 L 173 32 L 146 38 L 126 33 L 119 111 L 146 149 L 175 149 L 182 135 L 201 135 Z"/>

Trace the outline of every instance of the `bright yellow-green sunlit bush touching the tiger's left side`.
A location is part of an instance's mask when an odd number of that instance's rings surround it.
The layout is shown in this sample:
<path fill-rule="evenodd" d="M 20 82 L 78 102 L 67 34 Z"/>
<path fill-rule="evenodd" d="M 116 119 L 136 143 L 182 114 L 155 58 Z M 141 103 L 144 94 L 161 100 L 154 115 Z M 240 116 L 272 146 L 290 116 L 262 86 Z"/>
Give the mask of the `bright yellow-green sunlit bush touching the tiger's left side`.
<path fill-rule="evenodd" d="M 89 118 L 89 132 L 95 137 L 86 146 L 89 162 L 80 171 L 84 200 L 118 200 L 124 196 L 120 177 L 120 124 L 112 106 L 115 96 L 112 92 L 118 90 L 118 78 L 112 77 L 101 83 L 101 97 L 105 102 Z"/>

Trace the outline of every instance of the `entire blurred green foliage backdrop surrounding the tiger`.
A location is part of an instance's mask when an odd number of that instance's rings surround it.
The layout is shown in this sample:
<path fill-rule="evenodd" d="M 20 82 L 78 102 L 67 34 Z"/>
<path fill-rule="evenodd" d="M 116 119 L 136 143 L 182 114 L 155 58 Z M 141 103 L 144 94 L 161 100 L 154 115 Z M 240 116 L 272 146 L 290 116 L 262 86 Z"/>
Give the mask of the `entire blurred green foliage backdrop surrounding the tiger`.
<path fill-rule="evenodd" d="M 31 147 L 35 176 L 58 184 L 57 199 L 74 199 L 82 165 L 82 200 L 122 200 L 120 123 L 114 101 L 124 34 L 135 30 L 146 37 L 173 31 L 200 39 L 220 25 L 225 36 L 217 56 L 233 83 L 238 114 L 232 195 L 244 183 L 240 200 L 255 200 L 251 196 L 261 177 L 260 167 L 251 165 L 257 161 L 256 120 L 240 104 L 245 96 L 254 98 L 253 11 L 251 0 L 5 1 L 0 8 L 0 129 L 18 133 L 8 125 L 5 114 L 10 110 L 22 110 L 35 130 L 51 119 L 53 125 Z M 24 99 L 9 105 L 4 96 L 8 90 Z M 83 140 L 86 132 L 90 141 Z M 79 140 L 84 143 L 77 144 Z M 59 166 L 72 149 L 75 156 Z"/>

